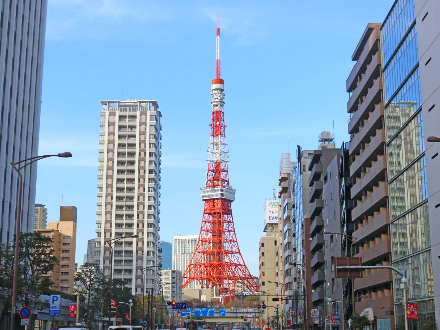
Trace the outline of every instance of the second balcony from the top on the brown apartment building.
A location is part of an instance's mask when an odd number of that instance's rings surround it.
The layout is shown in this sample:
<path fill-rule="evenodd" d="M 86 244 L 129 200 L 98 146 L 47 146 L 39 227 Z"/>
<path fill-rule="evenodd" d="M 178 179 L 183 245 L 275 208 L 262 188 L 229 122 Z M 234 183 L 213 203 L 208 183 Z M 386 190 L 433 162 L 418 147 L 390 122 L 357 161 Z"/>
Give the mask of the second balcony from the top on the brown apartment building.
<path fill-rule="evenodd" d="M 380 68 L 382 65 L 382 59 L 380 56 L 380 52 L 376 53 L 373 60 L 369 64 L 368 68 L 365 71 L 365 75 L 360 80 L 359 85 L 354 89 L 354 92 L 351 94 L 350 99 L 347 103 L 348 113 L 356 111 L 358 109 L 358 101 L 359 98 L 365 97 L 368 95 L 370 89 L 374 85 L 375 82 L 381 80 L 380 77 Z"/>

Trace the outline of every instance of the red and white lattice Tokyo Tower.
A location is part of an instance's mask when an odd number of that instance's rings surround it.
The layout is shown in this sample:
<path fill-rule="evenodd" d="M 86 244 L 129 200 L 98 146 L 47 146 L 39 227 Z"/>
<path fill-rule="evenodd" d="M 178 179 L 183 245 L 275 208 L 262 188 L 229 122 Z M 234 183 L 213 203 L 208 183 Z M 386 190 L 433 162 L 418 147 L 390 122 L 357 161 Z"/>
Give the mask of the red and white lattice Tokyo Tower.
<path fill-rule="evenodd" d="M 224 96 L 224 80 L 220 76 L 220 28 L 217 25 L 208 171 L 206 187 L 200 189 L 204 201 L 203 218 L 194 254 L 183 274 L 183 288 L 198 281 L 202 288 L 217 288 L 227 303 L 233 300 L 238 287 L 251 292 L 258 292 L 259 287 L 244 263 L 235 234 L 231 207 L 235 189 L 229 183 L 227 167 Z"/>

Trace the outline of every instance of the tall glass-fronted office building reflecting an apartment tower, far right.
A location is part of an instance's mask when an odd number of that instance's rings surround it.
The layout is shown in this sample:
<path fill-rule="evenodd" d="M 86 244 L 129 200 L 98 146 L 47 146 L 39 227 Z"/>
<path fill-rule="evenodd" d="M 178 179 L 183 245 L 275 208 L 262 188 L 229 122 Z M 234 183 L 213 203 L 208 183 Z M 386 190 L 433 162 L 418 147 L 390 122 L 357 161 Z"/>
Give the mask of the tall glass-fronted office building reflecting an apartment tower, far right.
<path fill-rule="evenodd" d="M 407 290 L 420 325 L 434 317 L 434 290 L 416 1 L 395 1 L 381 28 L 381 48 L 392 263 L 407 270 L 407 284 L 427 283 Z M 404 321 L 400 283 L 394 273 L 397 323 Z"/>

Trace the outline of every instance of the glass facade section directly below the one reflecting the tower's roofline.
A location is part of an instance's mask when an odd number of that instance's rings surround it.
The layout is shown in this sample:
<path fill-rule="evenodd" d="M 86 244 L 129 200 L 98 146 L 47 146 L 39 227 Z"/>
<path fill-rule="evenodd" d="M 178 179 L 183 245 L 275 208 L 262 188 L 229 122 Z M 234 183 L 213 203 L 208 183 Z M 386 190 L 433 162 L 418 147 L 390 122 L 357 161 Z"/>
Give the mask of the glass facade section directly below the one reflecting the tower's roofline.
<path fill-rule="evenodd" d="M 388 178 L 391 180 L 424 152 L 422 111 L 387 145 Z"/>

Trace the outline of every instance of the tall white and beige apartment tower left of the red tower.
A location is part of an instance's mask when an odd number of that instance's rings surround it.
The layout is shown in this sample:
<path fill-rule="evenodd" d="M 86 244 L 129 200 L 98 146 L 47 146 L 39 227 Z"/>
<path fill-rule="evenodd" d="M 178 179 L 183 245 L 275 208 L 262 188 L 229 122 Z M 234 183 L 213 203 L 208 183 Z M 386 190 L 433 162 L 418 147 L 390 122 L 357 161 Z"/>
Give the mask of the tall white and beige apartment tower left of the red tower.
<path fill-rule="evenodd" d="M 161 113 L 154 100 L 102 101 L 95 262 L 132 293 L 159 292 Z M 138 238 L 124 238 L 138 235 Z M 114 257 L 107 241 L 112 241 Z M 113 273 L 110 262 L 113 260 Z M 145 283 L 141 269 L 145 271 Z"/>

